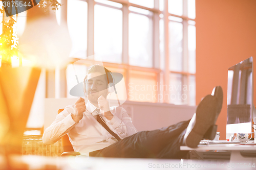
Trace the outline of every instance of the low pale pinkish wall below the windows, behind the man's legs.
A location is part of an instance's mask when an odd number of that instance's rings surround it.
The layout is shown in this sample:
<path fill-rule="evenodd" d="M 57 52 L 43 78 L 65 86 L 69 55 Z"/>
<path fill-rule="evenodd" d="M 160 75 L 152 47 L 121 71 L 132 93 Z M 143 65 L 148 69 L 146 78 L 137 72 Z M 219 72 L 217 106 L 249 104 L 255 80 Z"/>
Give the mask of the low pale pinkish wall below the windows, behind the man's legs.
<path fill-rule="evenodd" d="M 195 106 L 132 101 L 126 101 L 122 107 L 128 114 L 132 113 L 133 124 L 138 131 L 155 130 L 177 124 L 190 119 L 196 110 Z"/>

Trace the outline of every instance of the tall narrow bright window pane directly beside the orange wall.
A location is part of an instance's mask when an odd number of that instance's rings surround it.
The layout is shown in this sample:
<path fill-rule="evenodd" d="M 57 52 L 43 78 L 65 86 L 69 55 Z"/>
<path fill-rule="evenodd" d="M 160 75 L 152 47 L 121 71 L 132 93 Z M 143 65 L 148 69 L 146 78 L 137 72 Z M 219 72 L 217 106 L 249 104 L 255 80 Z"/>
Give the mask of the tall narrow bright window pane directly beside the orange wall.
<path fill-rule="evenodd" d="M 196 73 L 196 27 L 188 26 L 189 72 Z"/>

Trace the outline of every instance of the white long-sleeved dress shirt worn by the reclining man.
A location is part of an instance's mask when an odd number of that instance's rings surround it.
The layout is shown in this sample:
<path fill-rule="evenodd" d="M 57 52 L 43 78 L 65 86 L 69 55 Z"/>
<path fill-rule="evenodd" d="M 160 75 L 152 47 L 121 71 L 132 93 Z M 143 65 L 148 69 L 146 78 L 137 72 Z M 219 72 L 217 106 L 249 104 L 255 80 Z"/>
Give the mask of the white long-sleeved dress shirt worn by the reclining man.
<path fill-rule="evenodd" d="M 93 104 L 88 102 L 82 119 L 76 123 L 71 117 L 71 113 L 75 113 L 74 105 L 67 106 L 56 116 L 51 126 L 45 130 L 42 141 L 45 144 L 53 144 L 63 135 L 68 134 L 74 151 L 87 156 L 89 156 L 89 152 L 103 149 L 115 143 L 117 139 L 105 130 L 91 114 L 95 108 Z M 106 119 L 102 114 L 101 117 L 121 139 L 138 132 L 124 108 L 111 107 L 110 111 L 114 115 L 111 120 Z"/>

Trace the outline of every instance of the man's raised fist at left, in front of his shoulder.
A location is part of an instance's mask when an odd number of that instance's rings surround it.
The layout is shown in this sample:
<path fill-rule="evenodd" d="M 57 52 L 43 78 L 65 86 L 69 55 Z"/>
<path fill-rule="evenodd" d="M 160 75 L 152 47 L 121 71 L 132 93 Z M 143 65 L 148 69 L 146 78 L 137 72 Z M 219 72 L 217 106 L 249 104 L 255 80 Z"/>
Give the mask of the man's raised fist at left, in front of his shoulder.
<path fill-rule="evenodd" d="M 71 114 L 73 120 L 78 123 L 82 119 L 83 112 L 86 111 L 86 103 L 84 99 L 79 98 L 75 103 L 75 113 Z"/>

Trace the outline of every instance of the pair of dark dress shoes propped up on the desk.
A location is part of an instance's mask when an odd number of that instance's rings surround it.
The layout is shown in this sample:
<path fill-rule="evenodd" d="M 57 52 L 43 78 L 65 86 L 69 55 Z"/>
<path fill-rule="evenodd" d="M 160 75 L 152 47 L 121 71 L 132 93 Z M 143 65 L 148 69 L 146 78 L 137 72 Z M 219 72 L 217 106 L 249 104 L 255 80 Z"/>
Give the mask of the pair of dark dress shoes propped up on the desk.
<path fill-rule="evenodd" d="M 185 145 L 196 148 L 203 138 L 214 139 L 217 132 L 215 123 L 222 108 L 222 101 L 221 86 L 215 87 L 211 95 L 205 96 L 187 126 L 183 139 Z"/>

